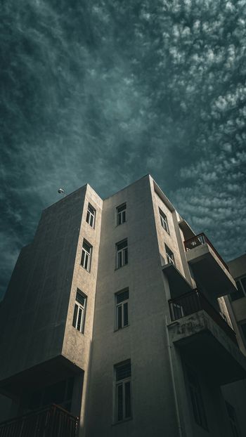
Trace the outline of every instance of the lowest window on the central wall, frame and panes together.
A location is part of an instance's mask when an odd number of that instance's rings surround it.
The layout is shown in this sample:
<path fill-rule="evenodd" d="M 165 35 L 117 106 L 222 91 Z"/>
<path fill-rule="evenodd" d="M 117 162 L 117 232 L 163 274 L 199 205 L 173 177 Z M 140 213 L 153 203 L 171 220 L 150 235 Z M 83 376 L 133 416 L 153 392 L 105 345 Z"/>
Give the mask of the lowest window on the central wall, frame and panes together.
<path fill-rule="evenodd" d="M 131 417 L 131 361 L 115 365 L 115 421 Z"/>

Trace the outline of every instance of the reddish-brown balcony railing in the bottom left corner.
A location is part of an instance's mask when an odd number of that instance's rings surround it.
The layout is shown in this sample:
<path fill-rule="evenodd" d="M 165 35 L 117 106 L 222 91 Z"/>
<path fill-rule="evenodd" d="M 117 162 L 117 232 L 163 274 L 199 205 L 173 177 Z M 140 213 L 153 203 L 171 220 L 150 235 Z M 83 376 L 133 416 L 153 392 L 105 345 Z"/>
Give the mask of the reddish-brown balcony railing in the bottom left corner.
<path fill-rule="evenodd" d="M 1 422 L 0 437 L 77 437 L 79 418 L 57 405 Z"/>

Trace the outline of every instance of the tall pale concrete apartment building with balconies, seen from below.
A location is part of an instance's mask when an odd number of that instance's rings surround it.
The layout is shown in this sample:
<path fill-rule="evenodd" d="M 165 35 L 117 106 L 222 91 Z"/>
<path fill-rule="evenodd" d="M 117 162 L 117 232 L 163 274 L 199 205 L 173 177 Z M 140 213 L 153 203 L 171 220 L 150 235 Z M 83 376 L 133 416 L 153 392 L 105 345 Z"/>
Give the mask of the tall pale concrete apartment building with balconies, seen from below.
<path fill-rule="evenodd" d="M 233 275 L 149 175 L 45 209 L 0 309 L 0 436 L 245 436 Z"/>

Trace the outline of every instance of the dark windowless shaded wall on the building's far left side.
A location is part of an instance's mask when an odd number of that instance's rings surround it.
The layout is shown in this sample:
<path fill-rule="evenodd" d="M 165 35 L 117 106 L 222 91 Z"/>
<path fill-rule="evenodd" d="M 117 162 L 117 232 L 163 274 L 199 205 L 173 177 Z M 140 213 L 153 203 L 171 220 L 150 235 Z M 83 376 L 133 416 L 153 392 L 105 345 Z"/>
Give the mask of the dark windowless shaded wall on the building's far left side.
<path fill-rule="evenodd" d="M 86 186 L 44 210 L 22 249 L 0 320 L 0 380 L 62 353 Z"/>

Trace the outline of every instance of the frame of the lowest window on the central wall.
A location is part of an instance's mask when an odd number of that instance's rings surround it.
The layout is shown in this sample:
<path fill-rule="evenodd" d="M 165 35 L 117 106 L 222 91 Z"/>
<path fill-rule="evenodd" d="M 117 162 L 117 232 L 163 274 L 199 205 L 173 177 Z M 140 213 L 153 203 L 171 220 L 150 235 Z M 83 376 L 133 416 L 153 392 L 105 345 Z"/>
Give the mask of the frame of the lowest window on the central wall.
<path fill-rule="evenodd" d="M 129 365 L 130 374 L 127 377 L 117 380 L 117 370 L 120 367 L 127 367 Z M 126 387 L 129 387 L 128 396 L 126 394 Z M 122 417 L 119 418 L 119 387 L 122 387 Z M 132 419 L 132 395 L 131 395 L 131 360 L 126 360 L 122 363 L 117 363 L 114 366 L 114 422 L 119 424 L 127 420 Z M 127 405 L 127 400 L 129 405 Z M 129 408 L 129 414 L 127 414 L 127 408 Z"/>

